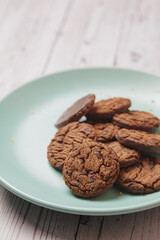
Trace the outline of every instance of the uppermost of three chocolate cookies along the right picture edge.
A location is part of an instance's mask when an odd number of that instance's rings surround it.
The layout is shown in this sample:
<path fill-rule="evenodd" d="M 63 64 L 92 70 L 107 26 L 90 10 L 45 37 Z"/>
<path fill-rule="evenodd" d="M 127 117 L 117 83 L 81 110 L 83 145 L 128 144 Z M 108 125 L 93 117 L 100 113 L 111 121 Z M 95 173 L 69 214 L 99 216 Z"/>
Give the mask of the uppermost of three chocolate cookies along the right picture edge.
<path fill-rule="evenodd" d="M 159 127 L 160 121 L 149 112 L 128 111 L 115 114 L 113 123 L 123 128 L 151 131 Z"/>

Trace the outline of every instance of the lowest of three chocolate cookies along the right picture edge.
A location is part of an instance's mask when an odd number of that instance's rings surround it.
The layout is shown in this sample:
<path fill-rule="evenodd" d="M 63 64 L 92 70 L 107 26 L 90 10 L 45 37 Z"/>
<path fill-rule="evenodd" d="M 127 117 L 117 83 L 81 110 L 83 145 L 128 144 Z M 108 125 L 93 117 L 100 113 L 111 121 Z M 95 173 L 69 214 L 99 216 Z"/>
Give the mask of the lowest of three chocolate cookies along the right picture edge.
<path fill-rule="evenodd" d="M 160 158 L 143 156 L 135 165 L 122 168 L 117 185 L 134 194 L 160 190 Z"/>

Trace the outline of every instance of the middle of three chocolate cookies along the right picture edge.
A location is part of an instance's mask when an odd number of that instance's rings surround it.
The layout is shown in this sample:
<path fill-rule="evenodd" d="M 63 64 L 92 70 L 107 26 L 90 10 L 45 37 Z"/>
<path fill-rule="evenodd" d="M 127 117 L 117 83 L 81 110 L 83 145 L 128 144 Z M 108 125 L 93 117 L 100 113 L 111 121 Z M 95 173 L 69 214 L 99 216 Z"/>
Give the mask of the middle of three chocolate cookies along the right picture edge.
<path fill-rule="evenodd" d="M 128 147 L 144 152 L 160 153 L 160 135 L 158 134 L 122 128 L 116 134 L 116 138 Z"/>

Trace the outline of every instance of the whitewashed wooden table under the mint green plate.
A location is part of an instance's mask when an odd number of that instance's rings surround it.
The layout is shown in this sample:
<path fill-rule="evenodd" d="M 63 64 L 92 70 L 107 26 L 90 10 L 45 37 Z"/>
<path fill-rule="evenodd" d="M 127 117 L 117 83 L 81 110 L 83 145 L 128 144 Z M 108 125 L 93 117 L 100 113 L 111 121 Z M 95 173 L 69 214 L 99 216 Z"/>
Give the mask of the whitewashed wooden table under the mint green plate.
<path fill-rule="evenodd" d="M 118 66 L 160 75 L 159 0 L 0 0 L 0 98 L 64 69 Z M 0 187 L 0 240 L 160 239 L 160 208 L 87 217 Z"/>

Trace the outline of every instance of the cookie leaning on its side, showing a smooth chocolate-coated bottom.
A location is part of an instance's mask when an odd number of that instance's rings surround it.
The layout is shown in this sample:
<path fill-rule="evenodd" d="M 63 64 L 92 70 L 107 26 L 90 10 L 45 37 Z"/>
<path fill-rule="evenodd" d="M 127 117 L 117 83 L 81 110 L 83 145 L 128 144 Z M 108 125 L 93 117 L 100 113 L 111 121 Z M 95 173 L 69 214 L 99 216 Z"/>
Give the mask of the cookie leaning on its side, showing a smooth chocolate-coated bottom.
<path fill-rule="evenodd" d="M 62 127 L 67 123 L 78 121 L 82 116 L 89 112 L 94 104 L 94 101 L 94 94 L 89 94 L 79 99 L 60 116 L 55 126 Z"/>

